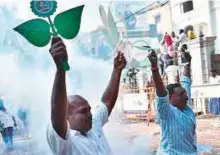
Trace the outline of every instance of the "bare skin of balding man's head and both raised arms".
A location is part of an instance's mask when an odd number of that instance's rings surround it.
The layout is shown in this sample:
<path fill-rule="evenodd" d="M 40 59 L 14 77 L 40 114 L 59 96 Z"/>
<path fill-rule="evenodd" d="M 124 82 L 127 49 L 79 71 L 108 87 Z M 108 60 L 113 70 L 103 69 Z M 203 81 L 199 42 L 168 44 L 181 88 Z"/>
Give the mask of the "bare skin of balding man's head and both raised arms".
<path fill-rule="evenodd" d="M 92 128 L 91 107 L 88 101 L 79 95 L 67 97 L 66 72 L 62 69 L 62 60 L 68 59 L 68 55 L 66 46 L 60 37 L 52 38 L 50 53 L 57 67 L 51 97 L 52 126 L 63 139 L 66 136 L 67 122 L 69 122 L 71 129 L 86 136 L 86 132 Z M 123 53 L 118 52 L 114 59 L 114 68 L 109 85 L 102 96 L 102 102 L 107 106 L 109 115 L 118 97 L 121 72 L 125 66 L 125 57 Z"/>

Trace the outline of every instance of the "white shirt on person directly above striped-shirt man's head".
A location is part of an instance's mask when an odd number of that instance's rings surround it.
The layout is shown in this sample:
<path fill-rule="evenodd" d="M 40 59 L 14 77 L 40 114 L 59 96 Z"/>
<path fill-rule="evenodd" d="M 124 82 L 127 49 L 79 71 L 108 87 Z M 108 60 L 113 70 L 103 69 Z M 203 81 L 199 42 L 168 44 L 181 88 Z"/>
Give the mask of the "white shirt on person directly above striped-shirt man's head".
<path fill-rule="evenodd" d="M 178 66 L 175 66 L 175 65 L 171 65 L 171 66 L 168 66 L 166 69 L 165 69 L 165 72 L 167 74 L 167 77 L 168 77 L 168 84 L 174 84 L 176 83 L 176 77 L 177 77 L 177 73 L 179 71 L 179 67 Z"/>

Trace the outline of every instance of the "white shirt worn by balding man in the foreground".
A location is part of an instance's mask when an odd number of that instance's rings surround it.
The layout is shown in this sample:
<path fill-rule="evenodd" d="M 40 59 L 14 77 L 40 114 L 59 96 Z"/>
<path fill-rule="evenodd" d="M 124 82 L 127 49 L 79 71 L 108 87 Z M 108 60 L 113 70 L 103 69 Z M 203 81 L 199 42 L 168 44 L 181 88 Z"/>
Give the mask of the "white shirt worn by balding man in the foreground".
<path fill-rule="evenodd" d="M 108 122 L 108 109 L 102 104 L 93 115 L 92 129 L 87 137 L 71 130 L 68 124 L 66 139 L 62 139 L 51 123 L 47 129 L 47 141 L 55 155 L 110 155 L 110 147 L 102 127 Z"/>

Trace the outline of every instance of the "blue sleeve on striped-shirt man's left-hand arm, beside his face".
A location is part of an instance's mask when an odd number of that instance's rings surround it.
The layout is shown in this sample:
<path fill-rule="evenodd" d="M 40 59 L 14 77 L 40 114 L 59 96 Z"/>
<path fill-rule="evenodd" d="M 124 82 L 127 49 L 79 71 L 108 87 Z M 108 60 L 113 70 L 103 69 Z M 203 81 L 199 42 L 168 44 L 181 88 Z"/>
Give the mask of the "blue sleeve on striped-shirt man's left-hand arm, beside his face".
<path fill-rule="evenodd" d="M 167 120 L 171 115 L 169 94 L 165 97 L 156 97 L 156 111 L 157 111 L 157 120 L 164 121 Z"/>

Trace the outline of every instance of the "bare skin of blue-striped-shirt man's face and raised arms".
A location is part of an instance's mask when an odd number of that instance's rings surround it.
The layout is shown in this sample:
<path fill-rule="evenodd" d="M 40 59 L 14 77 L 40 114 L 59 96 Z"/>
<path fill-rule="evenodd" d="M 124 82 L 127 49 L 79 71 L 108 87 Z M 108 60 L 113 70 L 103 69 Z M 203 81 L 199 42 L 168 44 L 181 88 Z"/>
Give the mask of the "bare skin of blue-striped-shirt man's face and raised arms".
<path fill-rule="evenodd" d="M 148 58 L 151 62 L 152 76 L 156 87 L 156 93 L 159 97 L 165 97 L 167 95 L 167 91 L 165 89 L 161 75 L 159 73 L 159 69 L 157 65 L 158 59 L 156 52 L 152 51 L 151 54 L 148 56 Z M 184 68 L 183 75 L 191 78 L 191 73 L 190 73 L 191 58 L 189 58 L 188 62 L 189 63 Z M 178 79 L 179 77 L 177 78 L 177 80 Z M 170 103 L 173 106 L 177 107 L 180 110 L 184 109 L 187 105 L 187 99 L 188 99 L 186 90 L 182 87 L 175 88 L 173 93 L 169 95 L 169 99 L 170 99 Z"/>

